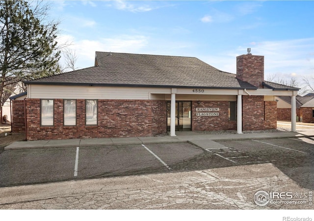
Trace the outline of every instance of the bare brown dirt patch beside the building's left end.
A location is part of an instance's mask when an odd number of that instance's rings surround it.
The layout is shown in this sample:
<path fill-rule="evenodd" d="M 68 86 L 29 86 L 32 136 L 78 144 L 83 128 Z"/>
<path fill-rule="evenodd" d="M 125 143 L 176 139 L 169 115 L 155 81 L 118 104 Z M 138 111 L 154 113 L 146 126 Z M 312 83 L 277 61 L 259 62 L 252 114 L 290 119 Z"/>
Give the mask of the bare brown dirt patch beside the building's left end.
<path fill-rule="evenodd" d="M 25 133 L 11 133 L 11 126 L 0 124 L 0 154 L 4 151 L 4 147 L 16 141 L 25 140 Z"/>

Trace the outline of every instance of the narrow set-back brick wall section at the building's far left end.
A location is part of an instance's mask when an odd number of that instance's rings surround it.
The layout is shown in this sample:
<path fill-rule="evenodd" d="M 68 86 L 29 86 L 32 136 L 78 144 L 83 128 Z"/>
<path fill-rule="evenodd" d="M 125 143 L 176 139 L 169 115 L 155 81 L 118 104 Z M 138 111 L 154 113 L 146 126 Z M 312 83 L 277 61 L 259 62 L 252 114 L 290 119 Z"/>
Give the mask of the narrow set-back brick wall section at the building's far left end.
<path fill-rule="evenodd" d="M 12 100 L 12 133 L 25 132 L 24 101 Z"/>

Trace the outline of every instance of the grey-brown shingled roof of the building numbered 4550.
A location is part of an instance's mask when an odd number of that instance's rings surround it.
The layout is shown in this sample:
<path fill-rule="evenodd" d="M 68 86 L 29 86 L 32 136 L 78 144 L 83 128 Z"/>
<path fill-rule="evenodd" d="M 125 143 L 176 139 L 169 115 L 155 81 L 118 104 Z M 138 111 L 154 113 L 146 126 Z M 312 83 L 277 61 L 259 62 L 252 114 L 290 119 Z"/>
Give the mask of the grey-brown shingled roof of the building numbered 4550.
<path fill-rule="evenodd" d="M 110 52 L 96 52 L 94 67 L 25 83 L 257 89 L 236 79 L 235 74 L 220 71 L 196 57 Z M 276 89 L 274 86 L 278 84 L 266 85 Z M 284 88 L 280 86 L 279 89 Z"/>

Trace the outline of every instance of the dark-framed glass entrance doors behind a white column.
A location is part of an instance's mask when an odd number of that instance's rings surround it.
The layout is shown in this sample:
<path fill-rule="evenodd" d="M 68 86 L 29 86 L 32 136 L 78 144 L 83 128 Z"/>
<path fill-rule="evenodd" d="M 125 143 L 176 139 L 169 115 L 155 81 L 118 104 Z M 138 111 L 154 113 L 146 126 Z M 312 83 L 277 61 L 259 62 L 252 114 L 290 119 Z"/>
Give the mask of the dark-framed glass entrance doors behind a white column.
<path fill-rule="evenodd" d="M 167 131 L 170 131 L 171 102 L 167 102 Z M 191 130 L 191 102 L 176 101 L 176 131 Z"/>

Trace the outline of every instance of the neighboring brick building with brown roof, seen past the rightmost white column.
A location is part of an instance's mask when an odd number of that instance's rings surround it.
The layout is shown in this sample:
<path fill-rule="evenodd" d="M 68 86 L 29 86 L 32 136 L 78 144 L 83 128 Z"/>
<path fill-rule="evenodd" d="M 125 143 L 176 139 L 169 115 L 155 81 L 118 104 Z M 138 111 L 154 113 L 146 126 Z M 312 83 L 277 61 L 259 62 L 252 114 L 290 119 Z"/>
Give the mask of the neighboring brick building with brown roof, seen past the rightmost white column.
<path fill-rule="evenodd" d="M 303 104 L 307 103 L 314 96 L 296 96 L 296 121 L 304 122 L 301 114 L 301 107 Z M 277 101 L 277 120 L 291 121 L 291 96 L 278 96 Z"/>

